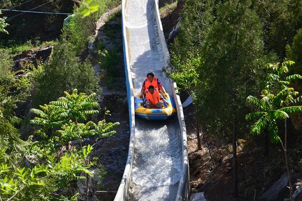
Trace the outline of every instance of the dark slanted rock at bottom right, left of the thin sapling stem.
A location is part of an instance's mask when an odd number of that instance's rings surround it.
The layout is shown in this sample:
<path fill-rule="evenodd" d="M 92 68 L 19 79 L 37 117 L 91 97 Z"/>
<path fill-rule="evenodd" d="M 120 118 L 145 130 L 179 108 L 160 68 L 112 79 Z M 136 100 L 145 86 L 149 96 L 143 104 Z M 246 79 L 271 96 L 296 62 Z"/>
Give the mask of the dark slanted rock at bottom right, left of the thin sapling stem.
<path fill-rule="evenodd" d="M 259 200 L 261 201 L 278 201 L 287 197 L 289 190 L 287 188 L 288 179 L 287 174 L 284 173 L 281 178 L 274 183 L 265 193 L 263 193 Z"/>

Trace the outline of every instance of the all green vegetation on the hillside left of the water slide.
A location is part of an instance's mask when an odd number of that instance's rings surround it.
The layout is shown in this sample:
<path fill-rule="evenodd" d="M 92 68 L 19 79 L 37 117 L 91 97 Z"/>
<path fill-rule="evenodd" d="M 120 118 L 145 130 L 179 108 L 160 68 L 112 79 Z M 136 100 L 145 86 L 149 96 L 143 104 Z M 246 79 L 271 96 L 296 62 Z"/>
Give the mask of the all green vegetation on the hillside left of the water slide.
<path fill-rule="evenodd" d="M 22 2 L 2 2 L 1 8 Z M 66 9 L 63 2 L 52 2 L 48 9 Z M 94 174 L 90 167 L 97 165 L 97 158 L 89 157 L 94 148 L 85 139 L 97 141 L 111 136 L 119 123 L 105 121 L 103 117 L 109 111 L 105 110 L 102 118 L 98 116 L 102 111 L 97 102 L 101 89 L 99 77 L 87 59 L 87 47 L 95 34 L 96 21 L 119 3 L 91 1 L 99 6 L 98 10 L 85 18 L 81 14 L 84 5 L 74 6 L 69 24 L 50 42 L 36 35 L 16 40 L 20 35 L 12 29 L 20 21 L 6 21 L 10 16 L 0 19 L 0 32 L 5 34 L 0 43 L 1 200 L 89 199 L 88 182 Z M 37 4 L 23 8 L 43 2 Z M 48 24 L 43 18 L 39 20 Z M 26 32 L 31 23 L 26 21 L 20 29 Z M 15 63 L 14 58 L 21 52 L 41 45 L 52 48 L 47 60 Z M 85 193 L 80 192 L 77 181 L 84 183 Z"/>

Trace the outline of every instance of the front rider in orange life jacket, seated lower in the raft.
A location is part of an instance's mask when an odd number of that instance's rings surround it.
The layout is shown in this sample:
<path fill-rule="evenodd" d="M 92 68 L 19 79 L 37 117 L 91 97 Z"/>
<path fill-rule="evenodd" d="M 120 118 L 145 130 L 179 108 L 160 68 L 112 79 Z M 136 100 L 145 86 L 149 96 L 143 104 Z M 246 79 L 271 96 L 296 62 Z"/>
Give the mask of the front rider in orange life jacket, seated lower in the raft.
<path fill-rule="evenodd" d="M 167 100 L 163 97 L 163 95 L 159 92 L 159 89 L 155 88 L 153 85 L 150 85 L 146 93 L 146 108 L 163 108 L 164 102 L 169 105 Z"/>

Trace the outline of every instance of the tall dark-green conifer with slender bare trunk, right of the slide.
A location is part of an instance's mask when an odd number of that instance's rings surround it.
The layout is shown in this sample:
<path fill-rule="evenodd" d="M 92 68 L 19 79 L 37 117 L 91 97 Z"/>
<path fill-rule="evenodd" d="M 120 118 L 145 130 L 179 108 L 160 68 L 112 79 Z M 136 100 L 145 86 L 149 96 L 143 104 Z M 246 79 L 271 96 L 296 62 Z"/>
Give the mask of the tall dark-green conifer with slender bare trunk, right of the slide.
<path fill-rule="evenodd" d="M 197 104 L 206 130 L 233 139 L 234 198 L 238 198 L 237 136 L 245 97 L 256 90 L 264 63 L 262 25 L 251 1 L 218 4 L 217 19 L 204 38 L 198 68 Z M 227 142 L 228 142 L 227 141 Z"/>

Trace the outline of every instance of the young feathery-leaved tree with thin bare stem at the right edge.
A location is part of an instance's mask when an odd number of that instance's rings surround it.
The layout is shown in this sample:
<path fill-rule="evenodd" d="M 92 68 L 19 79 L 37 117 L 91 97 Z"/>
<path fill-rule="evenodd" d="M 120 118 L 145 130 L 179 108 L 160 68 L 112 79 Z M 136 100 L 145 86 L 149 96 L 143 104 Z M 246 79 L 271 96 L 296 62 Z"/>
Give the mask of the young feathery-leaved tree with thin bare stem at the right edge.
<path fill-rule="evenodd" d="M 285 165 L 287 170 L 288 183 L 290 186 L 290 200 L 292 201 L 292 185 L 290 180 L 290 170 L 287 162 L 287 130 L 286 119 L 289 119 L 289 114 L 302 112 L 302 106 L 291 106 L 302 102 L 302 96 L 296 97 L 298 92 L 294 88 L 289 87 L 290 82 L 295 79 L 301 79 L 299 74 L 285 76 L 288 73 L 288 68 L 292 65 L 292 61 L 283 63 L 267 64 L 267 69 L 272 71 L 268 73 L 265 88 L 261 91 L 261 98 L 252 95 L 247 97 L 247 102 L 256 107 L 257 112 L 246 115 L 247 120 L 256 120 L 251 129 L 251 134 L 260 135 L 266 128 L 270 134 L 271 141 L 281 143 Z M 284 143 L 279 137 L 278 121 L 284 121 Z"/>

